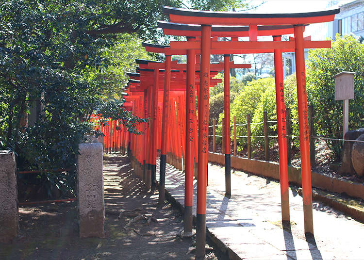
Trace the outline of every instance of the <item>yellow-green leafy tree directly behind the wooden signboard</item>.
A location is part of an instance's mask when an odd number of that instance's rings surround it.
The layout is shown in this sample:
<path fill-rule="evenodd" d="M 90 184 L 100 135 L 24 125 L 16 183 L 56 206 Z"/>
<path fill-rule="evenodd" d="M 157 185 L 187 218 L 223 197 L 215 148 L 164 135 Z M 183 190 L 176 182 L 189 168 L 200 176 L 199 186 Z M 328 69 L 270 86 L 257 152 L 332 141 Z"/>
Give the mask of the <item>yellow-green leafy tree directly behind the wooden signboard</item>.
<path fill-rule="evenodd" d="M 314 106 L 316 134 L 342 138 L 343 102 L 334 100 L 333 76 L 341 71 L 356 72 L 355 98 L 349 101 L 349 130 L 364 126 L 364 45 L 351 35 L 336 36 L 331 49 L 313 49 L 307 66 L 307 94 Z M 341 158 L 341 143 L 325 140 L 334 159 Z"/>

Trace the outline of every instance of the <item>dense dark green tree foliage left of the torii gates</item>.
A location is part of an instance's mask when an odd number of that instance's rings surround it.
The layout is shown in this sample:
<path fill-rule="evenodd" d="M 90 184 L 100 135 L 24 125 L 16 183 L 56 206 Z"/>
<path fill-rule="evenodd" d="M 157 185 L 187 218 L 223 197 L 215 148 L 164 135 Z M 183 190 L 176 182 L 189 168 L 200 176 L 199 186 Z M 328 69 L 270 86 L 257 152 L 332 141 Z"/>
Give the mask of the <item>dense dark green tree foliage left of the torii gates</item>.
<path fill-rule="evenodd" d="M 240 2 L 187 1 L 206 10 L 231 9 Z M 0 0 L 0 148 L 17 153 L 19 169 L 51 171 L 74 168 L 78 144 L 93 129 L 85 115 L 121 119 L 139 133 L 135 126 L 145 119 L 122 106 L 125 70 L 135 58 L 146 58 L 139 39 L 159 41 L 162 6 L 184 3 Z M 38 118 L 27 125 L 34 108 Z M 42 178 L 66 190 L 74 187 L 74 171 Z"/>

